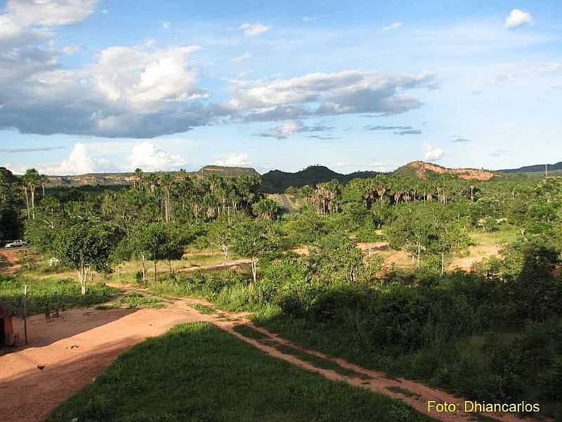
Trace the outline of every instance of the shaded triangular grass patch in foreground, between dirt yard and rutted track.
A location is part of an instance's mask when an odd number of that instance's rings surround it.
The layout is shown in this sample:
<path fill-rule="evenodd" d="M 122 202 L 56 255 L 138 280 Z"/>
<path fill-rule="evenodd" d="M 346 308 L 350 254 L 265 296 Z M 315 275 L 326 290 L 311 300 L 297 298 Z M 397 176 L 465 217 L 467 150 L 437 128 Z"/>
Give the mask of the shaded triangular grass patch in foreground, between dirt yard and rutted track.
<path fill-rule="evenodd" d="M 211 324 L 123 354 L 48 422 L 430 421 L 381 394 L 269 357 Z"/>

